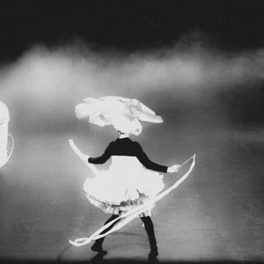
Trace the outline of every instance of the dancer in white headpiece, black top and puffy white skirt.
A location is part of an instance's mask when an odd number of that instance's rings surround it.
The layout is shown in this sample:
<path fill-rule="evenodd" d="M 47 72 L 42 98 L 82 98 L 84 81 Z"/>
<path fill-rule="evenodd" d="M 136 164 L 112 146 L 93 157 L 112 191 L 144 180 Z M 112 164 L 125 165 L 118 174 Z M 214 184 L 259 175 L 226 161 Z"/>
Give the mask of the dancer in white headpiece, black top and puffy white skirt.
<path fill-rule="evenodd" d="M 140 121 L 163 122 L 160 116 L 155 115 L 138 100 L 122 97 L 101 97 L 98 100 L 88 98 L 85 103 L 78 104 L 75 111 L 78 118 L 88 117 L 88 121 L 93 124 L 114 126 L 119 135 L 117 140 L 109 144 L 103 155 L 97 158 L 86 157 L 88 162 L 93 164 L 102 164 L 109 158 L 112 160 L 107 171 L 100 171 L 97 176 L 87 178 L 84 183 L 86 198 L 106 214 L 112 214 L 104 225 L 159 194 L 164 188 L 160 172 L 175 173 L 180 169 L 180 165 L 177 164 L 167 167 L 152 162 L 140 144 L 129 138 L 131 134 L 141 133 Z M 151 220 L 153 207 L 154 204 L 139 215 L 149 238 L 150 258 L 158 256 Z M 108 232 L 113 225 L 101 234 Z M 102 248 L 103 241 L 104 237 L 97 239 L 91 249 L 106 254 Z"/>

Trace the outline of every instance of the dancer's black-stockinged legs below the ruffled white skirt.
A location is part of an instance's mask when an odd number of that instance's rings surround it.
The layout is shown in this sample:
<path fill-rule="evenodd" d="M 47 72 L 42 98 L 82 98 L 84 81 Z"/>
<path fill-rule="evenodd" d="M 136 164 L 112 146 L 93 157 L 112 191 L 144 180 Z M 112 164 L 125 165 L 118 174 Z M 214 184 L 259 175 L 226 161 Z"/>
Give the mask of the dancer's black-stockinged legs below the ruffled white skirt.
<path fill-rule="evenodd" d="M 104 225 L 108 224 L 109 222 L 111 222 L 112 220 L 114 220 L 115 218 L 117 218 L 118 216 L 116 214 L 113 214 L 107 221 L 106 223 L 104 223 Z M 152 223 L 152 220 L 149 216 L 143 216 L 140 217 L 140 219 L 143 221 L 144 223 L 144 227 L 146 229 L 148 238 L 149 238 L 149 245 L 151 247 L 151 250 L 156 250 L 157 249 L 157 243 L 155 240 L 155 234 L 154 234 L 154 226 Z M 121 220 L 121 219 L 119 219 Z M 111 225 L 110 227 L 107 227 L 106 229 L 104 229 L 104 231 L 102 231 L 100 234 L 104 234 L 106 232 L 109 232 L 109 230 L 119 221 L 115 221 L 115 223 L 113 223 L 113 225 Z M 104 237 L 97 239 L 97 241 L 95 241 L 95 244 L 99 247 L 102 247 L 102 243 L 104 242 Z"/>

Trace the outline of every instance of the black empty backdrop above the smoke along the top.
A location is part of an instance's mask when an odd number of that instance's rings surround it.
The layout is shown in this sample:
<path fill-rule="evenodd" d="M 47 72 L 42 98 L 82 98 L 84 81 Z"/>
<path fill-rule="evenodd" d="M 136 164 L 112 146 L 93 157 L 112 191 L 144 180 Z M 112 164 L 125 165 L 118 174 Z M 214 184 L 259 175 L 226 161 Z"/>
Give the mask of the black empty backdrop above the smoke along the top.
<path fill-rule="evenodd" d="M 36 43 L 93 48 L 173 46 L 198 30 L 224 50 L 263 47 L 263 1 L 1 1 L 1 59 Z"/>

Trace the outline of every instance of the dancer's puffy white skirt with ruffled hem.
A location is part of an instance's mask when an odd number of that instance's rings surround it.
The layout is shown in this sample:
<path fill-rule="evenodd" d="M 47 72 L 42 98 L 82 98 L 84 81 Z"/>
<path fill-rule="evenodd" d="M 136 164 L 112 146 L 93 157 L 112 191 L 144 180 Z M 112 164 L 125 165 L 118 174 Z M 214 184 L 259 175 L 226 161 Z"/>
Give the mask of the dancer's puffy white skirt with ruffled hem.
<path fill-rule="evenodd" d="M 122 215 L 155 197 L 164 188 L 162 174 L 146 169 L 136 157 L 117 156 L 106 171 L 84 182 L 86 198 L 107 214 Z M 151 206 L 140 216 L 149 216 Z"/>

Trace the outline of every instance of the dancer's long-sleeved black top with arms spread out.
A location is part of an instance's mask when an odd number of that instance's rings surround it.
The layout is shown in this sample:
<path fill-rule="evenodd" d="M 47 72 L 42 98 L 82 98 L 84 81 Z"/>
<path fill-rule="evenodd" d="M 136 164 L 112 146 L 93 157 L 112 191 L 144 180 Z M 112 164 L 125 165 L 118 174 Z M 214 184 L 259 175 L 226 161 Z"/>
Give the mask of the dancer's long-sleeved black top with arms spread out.
<path fill-rule="evenodd" d="M 152 169 L 153 171 L 161 171 L 166 173 L 168 169 L 167 166 L 162 166 L 149 160 L 146 153 L 144 153 L 142 150 L 140 144 L 138 142 L 133 142 L 130 138 L 117 138 L 117 140 L 109 144 L 103 155 L 97 158 L 88 158 L 88 162 L 93 164 L 102 164 L 106 162 L 106 160 L 108 160 L 112 155 L 137 157 L 144 167 L 147 169 Z"/>

